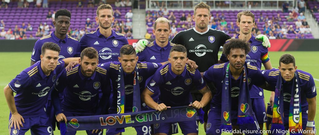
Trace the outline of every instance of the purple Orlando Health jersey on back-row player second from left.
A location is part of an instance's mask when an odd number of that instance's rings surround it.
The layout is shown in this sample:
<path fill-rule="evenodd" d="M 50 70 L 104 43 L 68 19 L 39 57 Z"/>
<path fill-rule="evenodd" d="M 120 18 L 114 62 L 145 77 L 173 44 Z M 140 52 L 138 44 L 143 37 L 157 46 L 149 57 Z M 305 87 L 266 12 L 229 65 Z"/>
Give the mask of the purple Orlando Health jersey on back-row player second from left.
<path fill-rule="evenodd" d="M 106 38 L 100 33 L 100 29 L 97 29 L 94 32 L 84 34 L 79 44 L 81 51 L 87 47 L 95 48 L 99 53 L 99 63 L 106 63 L 118 61 L 117 57 L 120 56 L 121 47 L 129 42 L 124 34 L 112 30 L 112 34 Z"/>

